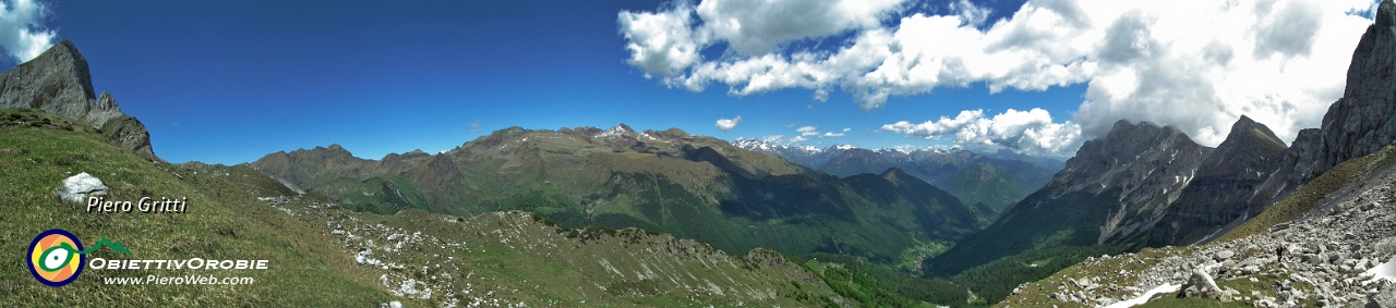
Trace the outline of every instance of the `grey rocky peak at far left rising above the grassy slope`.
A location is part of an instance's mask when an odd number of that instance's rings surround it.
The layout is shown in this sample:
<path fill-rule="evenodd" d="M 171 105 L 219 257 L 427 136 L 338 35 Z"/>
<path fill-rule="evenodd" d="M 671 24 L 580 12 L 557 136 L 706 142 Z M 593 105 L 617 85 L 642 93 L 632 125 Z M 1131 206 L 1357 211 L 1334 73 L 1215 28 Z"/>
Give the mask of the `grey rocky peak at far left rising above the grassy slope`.
<path fill-rule="evenodd" d="M 39 109 L 102 130 L 123 148 L 155 157 L 145 125 L 121 113 L 112 95 L 92 91 L 87 59 L 64 39 L 0 74 L 0 109 Z"/>

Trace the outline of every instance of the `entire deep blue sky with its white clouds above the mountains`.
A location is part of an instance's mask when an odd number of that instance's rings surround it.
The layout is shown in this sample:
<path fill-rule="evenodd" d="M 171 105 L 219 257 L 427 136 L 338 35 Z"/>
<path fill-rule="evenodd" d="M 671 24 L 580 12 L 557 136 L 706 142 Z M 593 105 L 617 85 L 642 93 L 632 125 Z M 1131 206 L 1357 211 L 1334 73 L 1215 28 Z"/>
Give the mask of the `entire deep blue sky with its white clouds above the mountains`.
<path fill-rule="evenodd" d="M 1293 139 L 1316 125 L 1335 86 L 1340 95 L 1343 70 L 1332 67 L 1346 68 L 1371 22 L 1361 11 L 1371 1 L 1216 8 L 1212 20 L 1146 1 L 1055 3 L 889 0 L 800 11 L 738 10 L 730 0 L 40 1 L 45 14 L 18 26 L 71 39 L 96 91 L 145 123 L 161 157 L 243 163 L 329 144 L 378 159 L 451 149 L 511 125 L 618 123 L 814 146 L 1069 156 L 1103 134 L 1100 123 L 1171 124 L 1215 145 L 1217 130 L 1248 114 Z M 1212 25 L 1223 31 L 1210 39 L 1175 33 L 1233 15 L 1254 18 Z M 631 22 L 648 17 L 690 22 Z M 1276 18 L 1316 31 L 1266 36 Z M 745 24 L 722 28 L 734 22 Z M 1121 32 L 1129 40 L 1113 49 Z M 669 33 L 670 45 L 646 33 Z M 32 46 L 4 36 L 14 59 L 3 64 L 14 66 Z M 684 43 L 698 47 L 695 57 L 655 53 Z M 1226 61 L 1203 57 L 1216 50 Z M 840 56 L 867 64 L 831 60 Z M 729 70 L 738 66 L 758 70 Z M 789 70 L 800 66 L 808 70 Z M 1242 82 L 1256 75 L 1263 85 Z M 1216 91 L 1185 91 L 1195 88 Z M 732 130 L 715 125 L 737 116 Z M 797 139 L 801 127 L 843 135 Z"/>

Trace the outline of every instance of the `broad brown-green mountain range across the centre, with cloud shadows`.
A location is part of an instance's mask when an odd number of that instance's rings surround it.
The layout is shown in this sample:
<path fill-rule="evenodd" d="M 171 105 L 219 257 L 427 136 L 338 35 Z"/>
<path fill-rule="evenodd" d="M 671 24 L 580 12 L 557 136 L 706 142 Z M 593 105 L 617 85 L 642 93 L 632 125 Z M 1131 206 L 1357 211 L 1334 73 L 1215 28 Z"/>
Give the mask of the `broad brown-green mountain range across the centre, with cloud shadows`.
<path fill-rule="evenodd" d="M 331 145 L 251 166 L 350 209 L 529 210 L 567 227 L 642 227 L 732 254 L 769 247 L 891 263 L 917 242 L 959 240 L 991 215 L 900 169 L 840 178 L 716 138 L 624 124 L 514 127 L 443 153 L 381 160 Z"/>

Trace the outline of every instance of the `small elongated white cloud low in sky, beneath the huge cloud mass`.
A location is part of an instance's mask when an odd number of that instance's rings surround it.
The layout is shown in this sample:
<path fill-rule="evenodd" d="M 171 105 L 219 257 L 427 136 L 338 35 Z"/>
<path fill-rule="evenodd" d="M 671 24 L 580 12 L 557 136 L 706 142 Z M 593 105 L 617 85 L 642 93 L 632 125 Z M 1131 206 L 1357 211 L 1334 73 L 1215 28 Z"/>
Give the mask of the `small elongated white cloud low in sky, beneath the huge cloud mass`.
<path fill-rule="evenodd" d="M 956 146 L 965 149 L 1009 149 L 1046 156 L 1071 156 L 1082 142 L 1081 125 L 1071 121 L 1053 123 L 1051 114 L 1041 109 L 1009 109 L 994 117 L 984 117 L 984 110 L 965 110 L 953 118 L 942 116 L 920 124 L 898 121 L 882 125 L 881 130 L 924 139 L 949 137 Z"/>

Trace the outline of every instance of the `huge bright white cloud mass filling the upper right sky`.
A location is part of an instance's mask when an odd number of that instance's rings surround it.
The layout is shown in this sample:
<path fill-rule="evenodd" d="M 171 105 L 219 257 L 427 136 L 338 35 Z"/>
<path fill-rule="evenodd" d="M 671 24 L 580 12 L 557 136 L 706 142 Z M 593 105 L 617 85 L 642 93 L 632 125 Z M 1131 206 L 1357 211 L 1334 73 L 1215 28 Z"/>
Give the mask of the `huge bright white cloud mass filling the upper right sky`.
<path fill-rule="evenodd" d="M 946 15 L 900 1 L 708 0 L 620 14 L 630 63 L 664 85 L 727 86 L 743 96 L 803 88 L 852 95 L 864 110 L 889 96 L 983 82 L 990 92 L 1086 84 L 1074 116 L 1086 135 L 1117 120 L 1174 125 L 1220 144 L 1245 114 L 1293 139 L 1342 96 L 1371 0 L 1029 0 L 976 26 L 984 8 Z M 850 4 L 853 3 L 853 4 Z M 804 4 L 804 6 L 796 6 Z M 980 18 L 983 15 L 983 18 Z M 796 26 L 800 25 L 800 26 Z M 799 43 L 812 40 L 829 43 Z M 831 47 L 832 46 L 832 47 Z M 722 49 L 704 59 L 701 50 Z M 712 53 L 709 53 L 712 54 Z"/>

